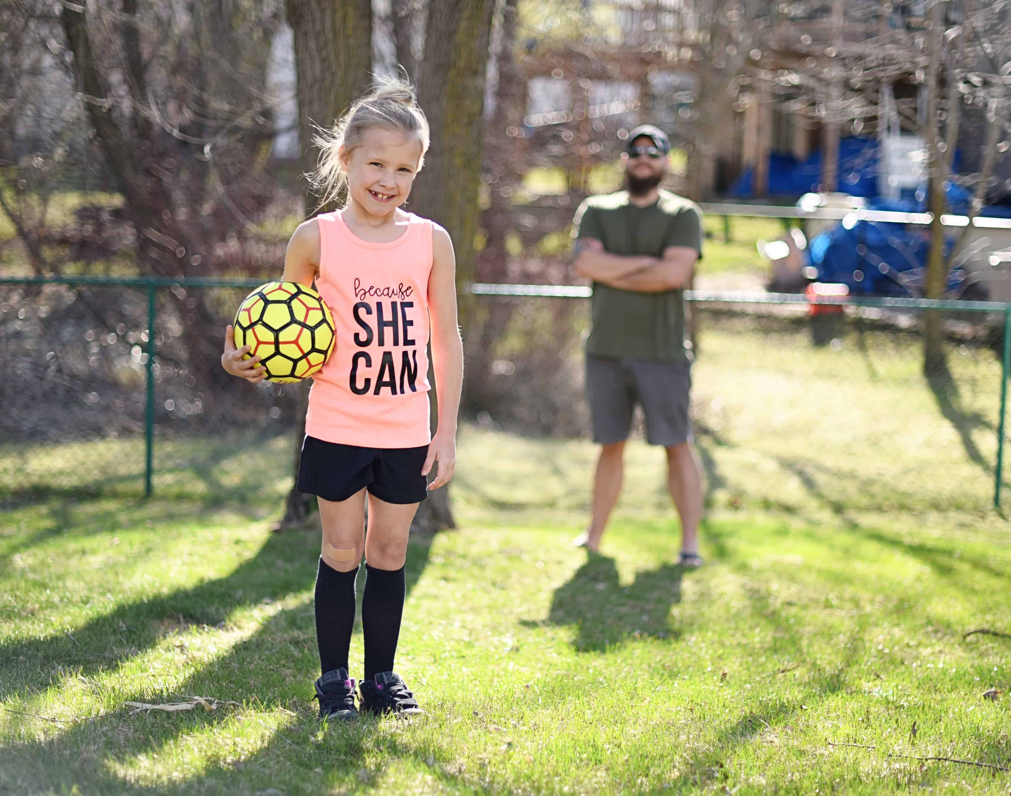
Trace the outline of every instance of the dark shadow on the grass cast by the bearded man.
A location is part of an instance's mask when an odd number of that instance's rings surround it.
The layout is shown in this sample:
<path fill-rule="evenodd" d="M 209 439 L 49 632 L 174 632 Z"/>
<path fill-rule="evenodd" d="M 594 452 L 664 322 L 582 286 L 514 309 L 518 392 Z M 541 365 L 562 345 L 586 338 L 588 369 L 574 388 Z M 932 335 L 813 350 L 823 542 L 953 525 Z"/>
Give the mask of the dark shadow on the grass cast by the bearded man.
<path fill-rule="evenodd" d="M 547 621 L 573 625 L 572 646 L 584 652 L 602 652 L 629 636 L 676 637 L 668 617 L 671 607 L 680 602 L 683 573 L 683 567 L 668 563 L 639 571 L 634 583 L 622 586 L 615 559 L 590 554 L 555 590 Z"/>

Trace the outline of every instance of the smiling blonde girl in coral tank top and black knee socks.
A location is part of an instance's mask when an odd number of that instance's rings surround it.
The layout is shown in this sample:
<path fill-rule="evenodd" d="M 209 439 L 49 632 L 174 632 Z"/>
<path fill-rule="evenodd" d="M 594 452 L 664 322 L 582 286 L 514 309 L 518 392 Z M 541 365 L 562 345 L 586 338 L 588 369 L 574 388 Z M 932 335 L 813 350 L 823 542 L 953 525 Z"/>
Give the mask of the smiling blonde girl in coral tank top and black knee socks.
<path fill-rule="evenodd" d="M 393 672 L 405 593 L 407 532 L 428 490 L 453 476 L 463 378 L 457 328 L 456 263 L 446 231 L 400 209 L 429 148 L 429 125 L 410 84 L 387 80 L 354 103 L 333 130 L 311 177 L 323 203 L 345 206 L 305 222 L 291 237 L 287 281 L 309 285 L 334 314 L 337 345 L 315 375 L 305 417 L 298 490 L 315 495 L 323 544 L 315 625 L 323 677 L 319 717 L 358 711 L 420 713 Z M 429 429 L 432 359 L 439 426 Z M 258 358 L 243 360 L 225 331 L 221 363 L 233 375 L 264 378 Z M 433 465 L 432 483 L 426 476 Z M 365 503 L 368 502 L 368 533 Z M 355 578 L 365 553 L 362 630 L 365 678 L 348 676 Z"/>

